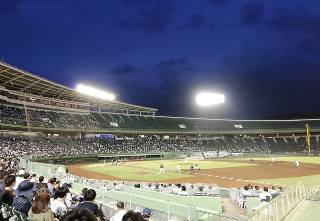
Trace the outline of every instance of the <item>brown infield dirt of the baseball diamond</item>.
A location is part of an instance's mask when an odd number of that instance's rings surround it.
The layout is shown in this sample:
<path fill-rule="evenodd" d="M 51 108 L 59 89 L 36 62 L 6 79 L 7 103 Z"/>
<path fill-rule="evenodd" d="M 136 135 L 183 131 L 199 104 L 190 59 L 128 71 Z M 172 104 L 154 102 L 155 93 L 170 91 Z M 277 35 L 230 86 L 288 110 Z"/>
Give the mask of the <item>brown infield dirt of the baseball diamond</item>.
<path fill-rule="evenodd" d="M 233 163 L 248 163 L 246 160 L 210 160 L 210 161 L 221 161 L 221 162 L 233 162 Z M 100 163 L 101 164 L 101 163 Z M 290 177 L 300 177 L 308 175 L 319 174 L 320 164 L 310 164 L 302 163 L 300 168 L 297 169 L 293 162 L 275 162 L 270 165 L 270 161 L 255 161 L 253 166 L 237 166 L 228 168 L 217 168 L 217 169 L 201 169 L 196 170 L 193 177 L 178 178 L 171 180 L 157 180 L 159 183 L 216 183 L 220 187 L 230 188 L 230 187 L 241 187 L 247 184 L 257 185 L 257 186 L 270 186 L 271 183 L 255 183 L 252 180 L 257 179 L 275 179 L 275 178 L 290 178 Z M 132 180 L 132 179 L 120 179 L 118 177 L 109 176 L 101 174 L 98 172 L 89 171 L 87 169 L 81 168 L 81 166 L 93 165 L 91 164 L 81 164 L 81 165 L 70 165 L 69 173 L 83 177 L 85 174 L 86 178 L 98 179 L 98 180 L 118 180 L 118 181 L 136 181 L 136 182 L 150 182 L 148 176 L 145 180 Z M 129 166 L 129 165 L 127 165 Z M 182 172 L 188 173 L 189 170 L 181 170 Z M 171 170 L 170 172 L 175 172 Z M 160 176 L 159 176 L 160 178 Z M 252 181 L 252 182 L 251 182 Z M 153 181 L 155 182 L 155 181 Z M 275 184 L 275 186 L 280 186 Z"/>

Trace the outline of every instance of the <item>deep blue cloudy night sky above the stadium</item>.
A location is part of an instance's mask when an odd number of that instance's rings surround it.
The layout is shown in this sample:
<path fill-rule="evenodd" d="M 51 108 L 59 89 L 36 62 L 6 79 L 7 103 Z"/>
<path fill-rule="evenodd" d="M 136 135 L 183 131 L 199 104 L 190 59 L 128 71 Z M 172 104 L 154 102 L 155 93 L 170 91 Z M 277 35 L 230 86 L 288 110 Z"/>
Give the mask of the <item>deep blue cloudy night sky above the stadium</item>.
<path fill-rule="evenodd" d="M 0 55 L 158 115 L 320 112 L 319 0 L 1 0 Z"/>

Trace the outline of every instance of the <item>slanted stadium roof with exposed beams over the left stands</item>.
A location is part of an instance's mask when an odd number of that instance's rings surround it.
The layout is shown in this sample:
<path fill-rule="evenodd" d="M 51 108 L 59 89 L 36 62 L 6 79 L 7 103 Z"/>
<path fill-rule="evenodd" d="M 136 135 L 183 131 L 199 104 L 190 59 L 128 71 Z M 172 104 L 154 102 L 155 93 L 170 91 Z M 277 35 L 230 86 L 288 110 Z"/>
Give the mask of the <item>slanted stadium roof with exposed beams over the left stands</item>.
<path fill-rule="evenodd" d="M 9 90 L 30 93 L 36 96 L 90 104 L 111 110 L 155 113 L 157 109 L 132 105 L 119 101 L 104 100 L 79 93 L 76 89 L 55 83 L 0 61 L 0 86 Z"/>

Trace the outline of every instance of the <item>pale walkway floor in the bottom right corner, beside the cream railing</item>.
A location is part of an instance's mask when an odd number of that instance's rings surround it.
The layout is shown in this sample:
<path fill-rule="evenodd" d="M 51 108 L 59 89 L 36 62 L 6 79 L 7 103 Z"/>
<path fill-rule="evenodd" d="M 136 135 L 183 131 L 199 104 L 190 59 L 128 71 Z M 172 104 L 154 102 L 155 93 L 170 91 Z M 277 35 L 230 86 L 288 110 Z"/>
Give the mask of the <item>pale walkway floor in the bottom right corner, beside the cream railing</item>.
<path fill-rule="evenodd" d="M 319 221 L 320 201 L 305 200 L 288 221 Z"/>

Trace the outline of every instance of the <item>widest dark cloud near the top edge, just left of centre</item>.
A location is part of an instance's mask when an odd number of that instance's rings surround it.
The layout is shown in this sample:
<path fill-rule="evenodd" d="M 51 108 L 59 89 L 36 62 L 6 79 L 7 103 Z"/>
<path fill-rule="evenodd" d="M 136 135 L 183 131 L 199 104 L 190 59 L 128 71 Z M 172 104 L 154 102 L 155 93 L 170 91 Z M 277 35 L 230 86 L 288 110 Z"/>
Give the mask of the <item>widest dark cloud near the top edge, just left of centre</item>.
<path fill-rule="evenodd" d="M 138 29 L 142 31 L 164 31 L 171 22 L 175 9 L 171 6 L 156 6 L 142 8 L 136 16 L 121 19 L 119 27 L 126 29 Z"/>

